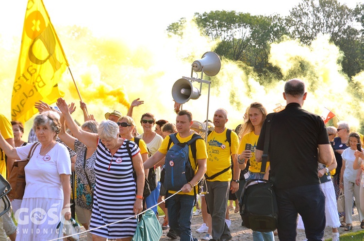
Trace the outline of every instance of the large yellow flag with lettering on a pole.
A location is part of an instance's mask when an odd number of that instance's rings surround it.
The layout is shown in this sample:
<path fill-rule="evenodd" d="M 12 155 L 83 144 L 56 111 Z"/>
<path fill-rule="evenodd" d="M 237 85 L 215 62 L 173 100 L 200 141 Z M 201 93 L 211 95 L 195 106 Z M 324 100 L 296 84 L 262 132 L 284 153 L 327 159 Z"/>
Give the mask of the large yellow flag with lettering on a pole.
<path fill-rule="evenodd" d="M 28 0 L 11 101 L 12 120 L 24 123 L 38 111 L 35 102 L 50 104 L 64 96 L 58 81 L 67 66 L 43 1 Z"/>

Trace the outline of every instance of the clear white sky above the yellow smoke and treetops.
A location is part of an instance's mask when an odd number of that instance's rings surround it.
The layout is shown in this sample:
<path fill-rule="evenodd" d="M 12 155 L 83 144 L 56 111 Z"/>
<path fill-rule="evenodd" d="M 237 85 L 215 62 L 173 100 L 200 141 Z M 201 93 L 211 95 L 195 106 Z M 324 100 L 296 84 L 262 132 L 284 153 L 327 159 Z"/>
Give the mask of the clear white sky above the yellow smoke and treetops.
<path fill-rule="evenodd" d="M 238 3 L 237 3 L 238 2 Z M 44 0 L 53 25 L 89 27 L 96 35 L 119 36 L 132 43 L 152 41 L 168 24 L 194 13 L 226 10 L 286 16 L 300 0 Z M 339 0 L 354 7 L 359 0 Z M 361 1 L 363 2 L 363 1 Z M 1 34 L 20 36 L 27 0 L 8 0 L 0 9 Z"/>

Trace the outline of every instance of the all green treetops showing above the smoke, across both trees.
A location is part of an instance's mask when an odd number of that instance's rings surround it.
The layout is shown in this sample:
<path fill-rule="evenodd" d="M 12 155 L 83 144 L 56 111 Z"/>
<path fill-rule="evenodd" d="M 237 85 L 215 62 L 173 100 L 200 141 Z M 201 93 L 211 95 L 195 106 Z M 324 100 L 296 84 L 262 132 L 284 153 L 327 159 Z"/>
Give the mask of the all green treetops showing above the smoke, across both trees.
<path fill-rule="evenodd" d="M 280 42 L 284 36 L 309 45 L 318 35 L 329 34 L 330 40 L 344 52 L 339 64 L 349 78 L 364 68 L 364 3 L 351 9 L 338 0 L 301 0 L 288 17 L 222 10 L 195 13 L 194 21 L 201 33 L 218 41 L 212 51 L 252 67 L 265 85 L 283 77 L 280 69 L 269 63 L 269 55 L 270 44 Z M 182 37 L 184 23 L 181 18 L 170 24 L 167 33 Z M 300 75 L 306 76 L 305 64 L 300 68 Z M 293 69 L 289 76 L 297 71 Z"/>

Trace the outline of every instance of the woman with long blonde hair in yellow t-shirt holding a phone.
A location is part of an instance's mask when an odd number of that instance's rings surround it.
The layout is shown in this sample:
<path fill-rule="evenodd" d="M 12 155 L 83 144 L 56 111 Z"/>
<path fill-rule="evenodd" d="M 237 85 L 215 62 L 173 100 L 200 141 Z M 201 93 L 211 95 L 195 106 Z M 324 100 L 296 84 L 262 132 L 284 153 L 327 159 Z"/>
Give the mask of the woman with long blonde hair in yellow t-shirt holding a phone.
<path fill-rule="evenodd" d="M 244 122 L 243 127 L 239 133 L 241 138 L 238 153 L 238 163 L 239 168 L 244 170 L 247 166 L 247 162 L 250 159 L 250 167 L 248 171 L 249 177 L 246 181 L 250 179 L 261 179 L 264 178 L 265 172 L 268 172 L 269 162 L 266 163 L 266 169 L 261 172 L 262 163 L 256 162 L 255 160 L 255 147 L 258 142 L 260 131 L 263 126 L 263 122 L 266 117 L 266 109 L 262 103 L 254 102 L 251 103 L 248 109 L 248 118 Z M 245 150 L 246 144 L 251 144 L 250 150 Z M 241 197 L 239 197 L 241 200 Z M 253 231 L 253 241 L 273 241 L 273 232 L 257 232 Z"/>

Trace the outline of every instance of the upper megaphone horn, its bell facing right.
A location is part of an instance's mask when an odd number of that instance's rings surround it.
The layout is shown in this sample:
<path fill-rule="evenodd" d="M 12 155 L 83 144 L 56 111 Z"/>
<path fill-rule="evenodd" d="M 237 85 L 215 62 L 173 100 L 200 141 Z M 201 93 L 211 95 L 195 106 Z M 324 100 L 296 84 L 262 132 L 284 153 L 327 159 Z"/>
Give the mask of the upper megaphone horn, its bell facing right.
<path fill-rule="evenodd" d="M 205 52 L 202 58 L 192 63 L 195 72 L 204 72 L 208 76 L 215 76 L 221 68 L 220 57 L 215 52 Z"/>

